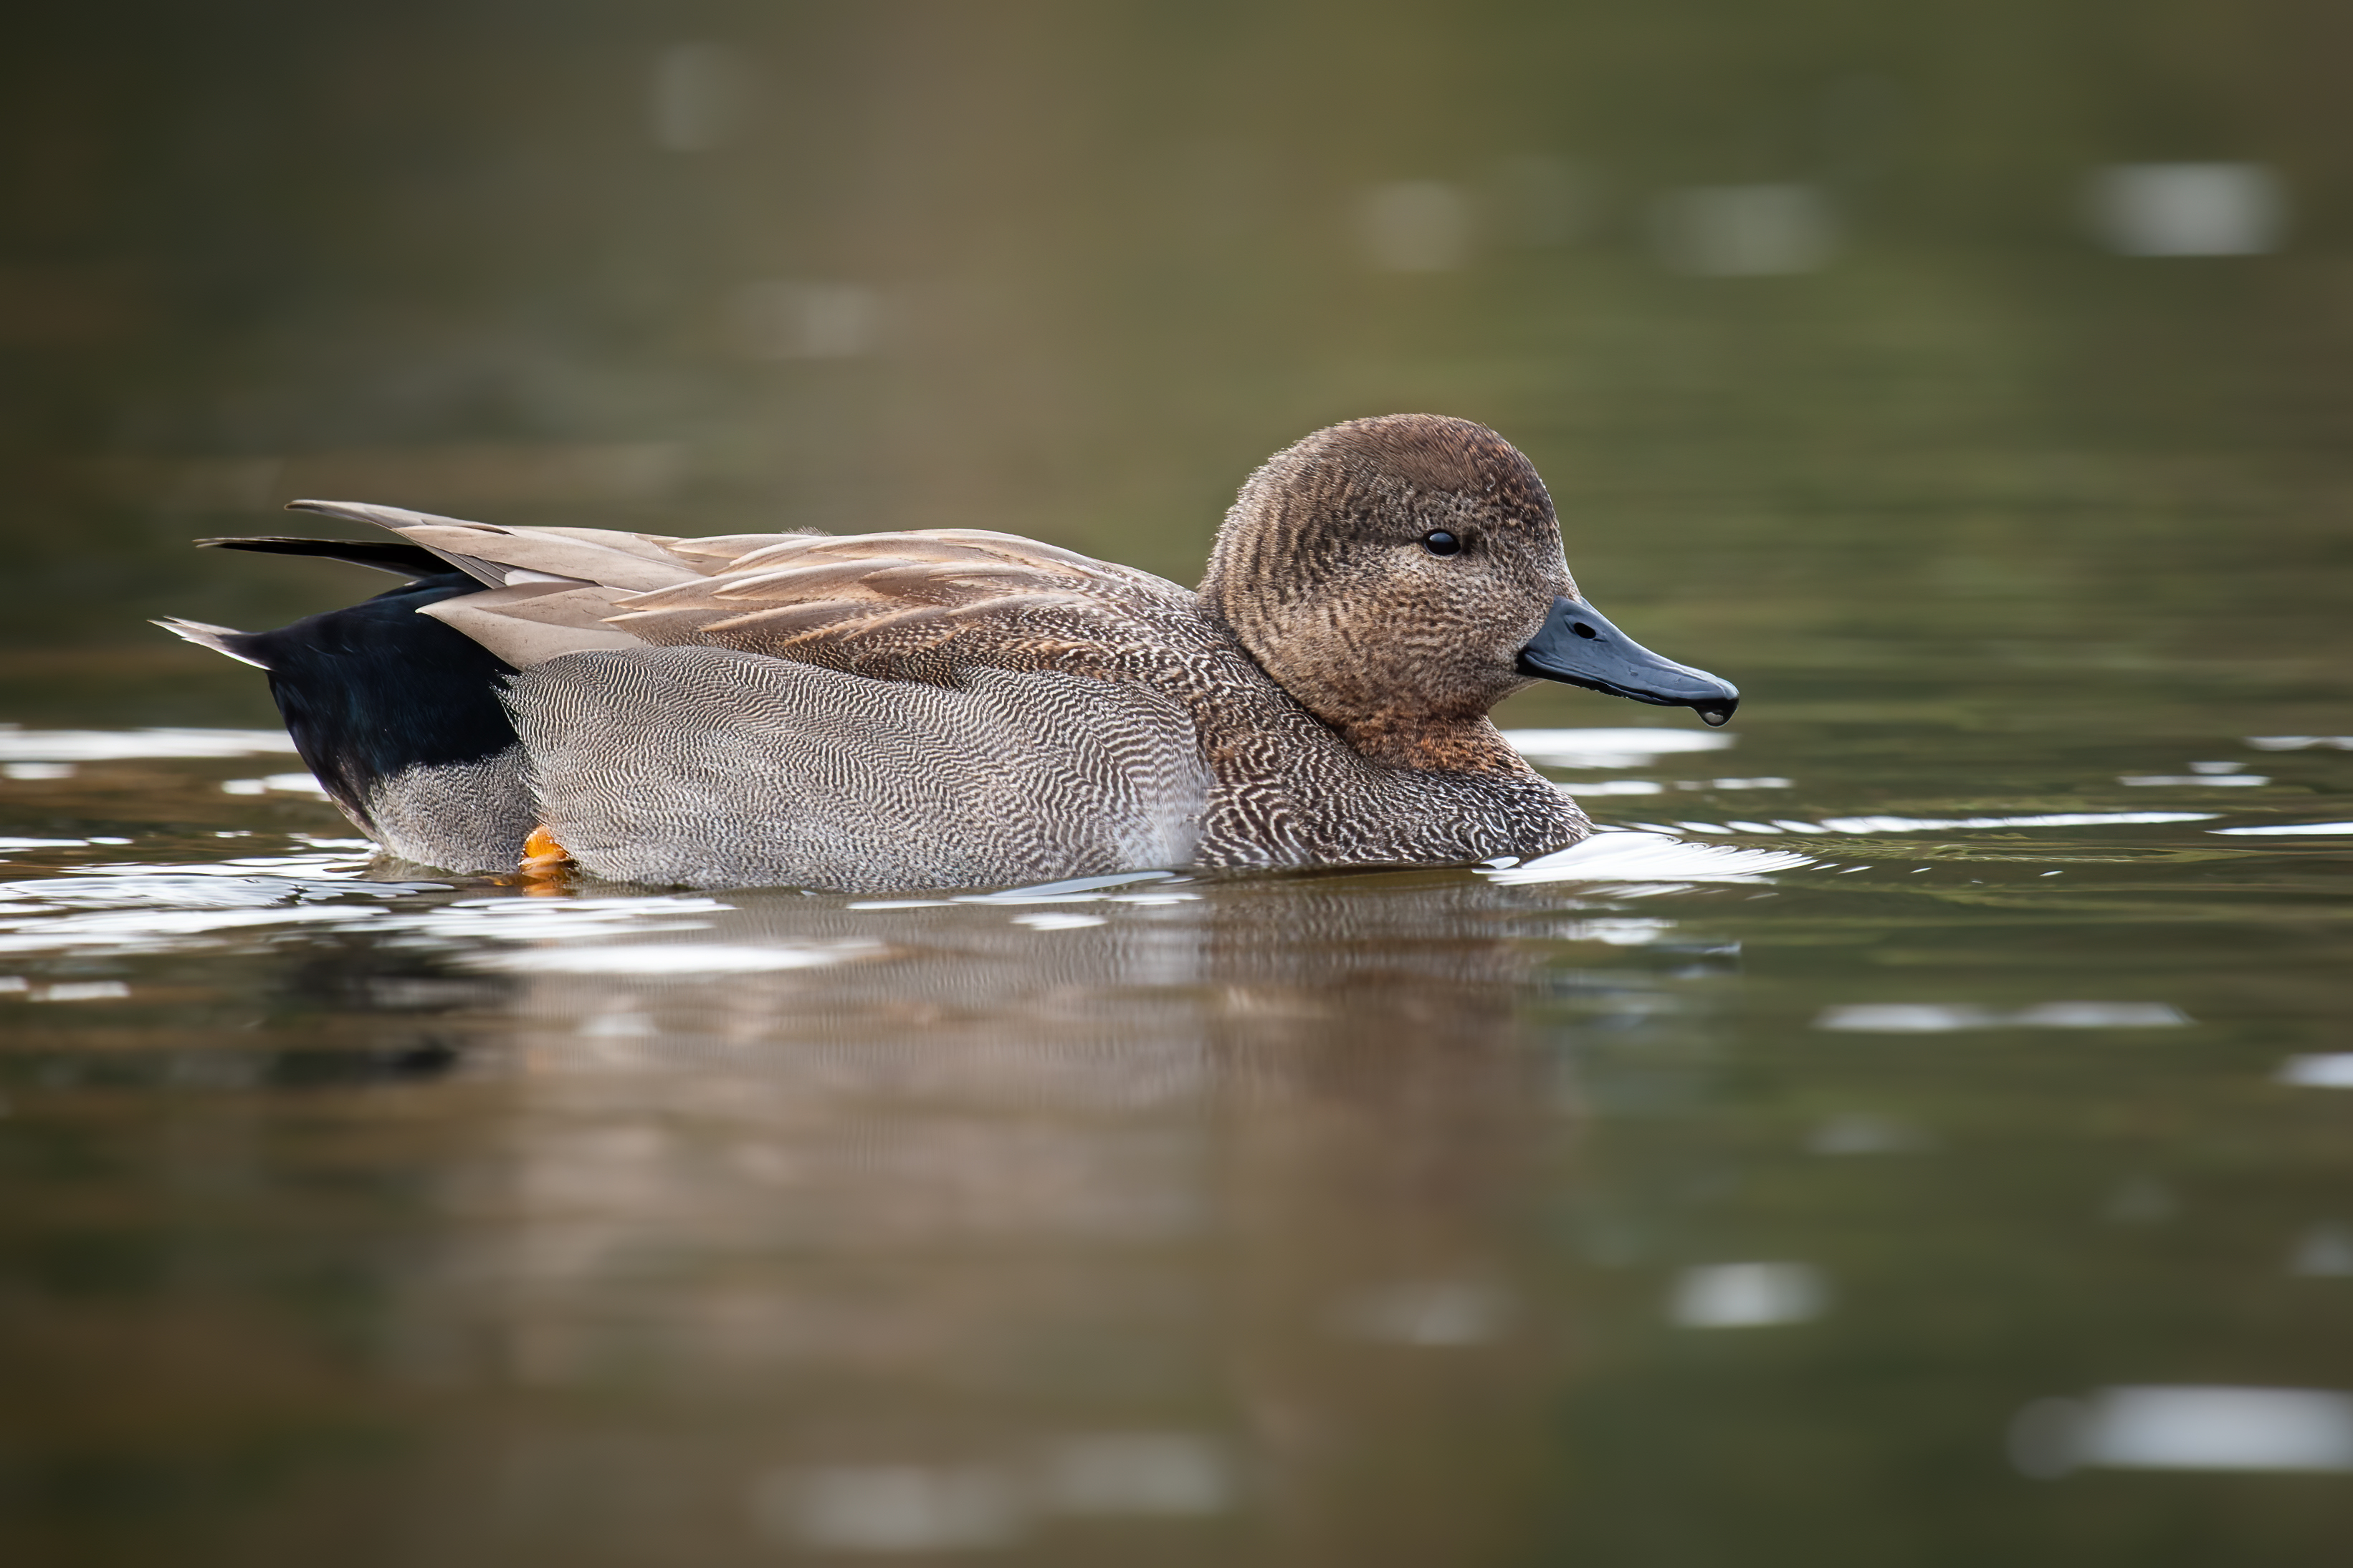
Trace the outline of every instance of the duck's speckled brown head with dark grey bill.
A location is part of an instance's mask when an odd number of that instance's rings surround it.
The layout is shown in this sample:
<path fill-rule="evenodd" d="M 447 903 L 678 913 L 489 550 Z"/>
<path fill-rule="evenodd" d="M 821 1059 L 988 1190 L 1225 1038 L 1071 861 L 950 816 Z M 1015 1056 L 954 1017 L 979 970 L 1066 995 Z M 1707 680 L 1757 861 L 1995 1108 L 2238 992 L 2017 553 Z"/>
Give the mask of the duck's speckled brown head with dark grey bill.
<path fill-rule="evenodd" d="M 1200 585 L 1249 656 L 1379 762 L 1449 766 L 1537 679 L 1722 724 L 1739 691 L 1640 646 L 1577 592 L 1537 468 L 1487 425 L 1388 414 L 1278 451 Z"/>

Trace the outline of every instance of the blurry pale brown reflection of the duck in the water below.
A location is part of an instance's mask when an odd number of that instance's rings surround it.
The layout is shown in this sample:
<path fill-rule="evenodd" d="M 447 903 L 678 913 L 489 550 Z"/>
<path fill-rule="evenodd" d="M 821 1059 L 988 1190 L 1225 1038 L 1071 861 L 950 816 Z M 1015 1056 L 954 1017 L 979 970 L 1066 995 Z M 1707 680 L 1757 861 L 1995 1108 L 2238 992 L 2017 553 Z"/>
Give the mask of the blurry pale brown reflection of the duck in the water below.
<path fill-rule="evenodd" d="M 779 1544 L 1040 1537 L 1075 1507 L 1073 1443 L 1167 1460 L 1101 1493 L 1127 1512 L 1184 1497 L 1226 1521 L 1186 1528 L 1329 1561 L 1525 1528 L 1475 1455 L 1541 1436 L 1565 1354 L 1508 1267 L 1567 1131 L 1522 1027 L 1558 954 L 1522 933 L 1558 889 L 1064 898 L 734 893 L 699 931 L 619 938 L 845 954 L 791 971 L 541 976 L 534 952 L 581 947 L 513 950 L 482 1016 L 527 1067 L 506 1222 L 456 1269 L 511 1373 L 725 1389 L 746 1432 L 722 1465 Z M 1104 924 L 1016 924 L 1038 907 Z M 511 1434 L 551 1465 L 574 1439 Z M 673 1443 L 647 1410 L 626 1474 L 560 1493 L 682 1486 Z M 1398 1462 L 1442 1483 L 1388 1500 L 1367 1479 Z"/>

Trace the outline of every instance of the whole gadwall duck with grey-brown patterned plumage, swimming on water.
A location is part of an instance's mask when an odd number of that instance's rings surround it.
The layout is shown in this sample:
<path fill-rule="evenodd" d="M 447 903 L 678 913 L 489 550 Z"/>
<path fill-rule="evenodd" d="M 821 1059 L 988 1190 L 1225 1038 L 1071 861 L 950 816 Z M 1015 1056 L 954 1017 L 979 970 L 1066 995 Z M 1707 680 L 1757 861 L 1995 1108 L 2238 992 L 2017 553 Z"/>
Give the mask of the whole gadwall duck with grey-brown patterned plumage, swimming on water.
<path fill-rule="evenodd" d="M 294 510 L 398 543 L 202 543 L 412 581 L 275 632 L 158 625 L 268 670 L 344 813 L 459 872 L 896 891 L 1525 858 L 1593 827 L 1487 722 L 1501 698 L 1739 703 L 1586 604 L 1534 465 L 1433 414 L 1278 451 L 1198 592 L 981 529 Z"/>

